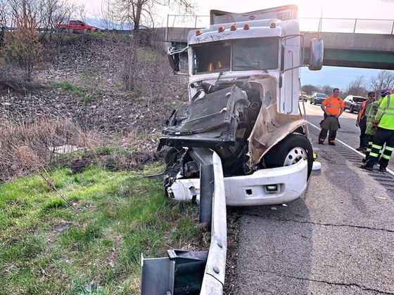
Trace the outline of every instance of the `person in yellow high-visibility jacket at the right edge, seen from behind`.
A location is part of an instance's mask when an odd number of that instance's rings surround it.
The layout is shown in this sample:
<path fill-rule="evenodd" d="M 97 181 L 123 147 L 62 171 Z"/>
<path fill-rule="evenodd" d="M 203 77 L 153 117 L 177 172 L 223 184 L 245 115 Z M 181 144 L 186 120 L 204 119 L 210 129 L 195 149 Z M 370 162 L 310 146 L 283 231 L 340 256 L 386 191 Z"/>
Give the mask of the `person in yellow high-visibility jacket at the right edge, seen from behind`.
<path fill-rule="evenodd" d="M 362 165 L 361 168 L 372 171 L 380 156 L 379 171 L 386 172 L 386 167 L 394 150 L 394 94 L 383 98 L 378 112 L 376 112 L 374 122 L 372 122 L 372 128 L 377 129 L 376 134 L 367 163 Z M 386 147 L 381 152 L 385 144 Z M 379 155 L 380 152 L 381 155 Z"/>

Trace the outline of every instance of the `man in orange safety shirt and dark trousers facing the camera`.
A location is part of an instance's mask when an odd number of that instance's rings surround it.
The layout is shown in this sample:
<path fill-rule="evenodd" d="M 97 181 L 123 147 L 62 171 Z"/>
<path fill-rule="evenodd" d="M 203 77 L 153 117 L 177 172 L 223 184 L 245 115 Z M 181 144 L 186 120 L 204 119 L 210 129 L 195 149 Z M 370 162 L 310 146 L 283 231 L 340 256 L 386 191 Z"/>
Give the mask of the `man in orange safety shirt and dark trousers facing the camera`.
<path fill-rule="evenodd" d="M 322 130 L 319 133 L 319 144 L 323 144 L 329 133 L 329 145 L 335 145 L 336 131 L 341 127 L 338 118 L 343 113 L 345 103 L 343 99 L 338 97 L 339 89 L 333 89 L 333 95 L 329 96 L 322 102 L 322 110 L 324 111 L 324 119 L 320 122 Z"/>

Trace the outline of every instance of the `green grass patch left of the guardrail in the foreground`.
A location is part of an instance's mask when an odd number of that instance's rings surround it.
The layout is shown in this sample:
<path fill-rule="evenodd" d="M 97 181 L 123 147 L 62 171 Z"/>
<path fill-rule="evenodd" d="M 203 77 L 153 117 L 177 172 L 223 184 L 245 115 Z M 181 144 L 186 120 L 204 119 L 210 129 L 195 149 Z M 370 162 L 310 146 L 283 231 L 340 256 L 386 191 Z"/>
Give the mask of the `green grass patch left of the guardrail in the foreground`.
<path fill-rule="evenodd" d="M 201 235 L 198 208 L 144 177 L 162 170 L 90 166 L 1 184 L 0 294 L 139 293 L 141 253 L 190 249 Z"/>

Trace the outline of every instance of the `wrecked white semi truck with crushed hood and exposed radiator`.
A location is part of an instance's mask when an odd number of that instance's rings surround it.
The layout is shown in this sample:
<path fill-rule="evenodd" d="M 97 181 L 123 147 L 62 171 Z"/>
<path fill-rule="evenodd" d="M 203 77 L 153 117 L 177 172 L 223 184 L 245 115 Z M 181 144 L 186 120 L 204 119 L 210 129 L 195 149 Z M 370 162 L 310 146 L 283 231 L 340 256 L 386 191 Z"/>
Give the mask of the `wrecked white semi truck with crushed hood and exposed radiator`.
<path fill-rule="evenodd" d="M 286 10 L 294 14 L 296 6 L 211 11 L 210 27 L 189 32 L 189 103 L 173 112 L 160 138 L 168 195 L 198 197 L 204 149 L 222 159 L 229 206 L 281 204 L 303 194 L 313 151 L 298 107 L 300 67 L 320 70 L 323 43 L 310 41 L 305 64 L 298 21 L 272 18 Z M 215 23 L 223 17 L 231 22 Z M 178 58 L 179 51 L 170 53 L 174 71 Z"/>

